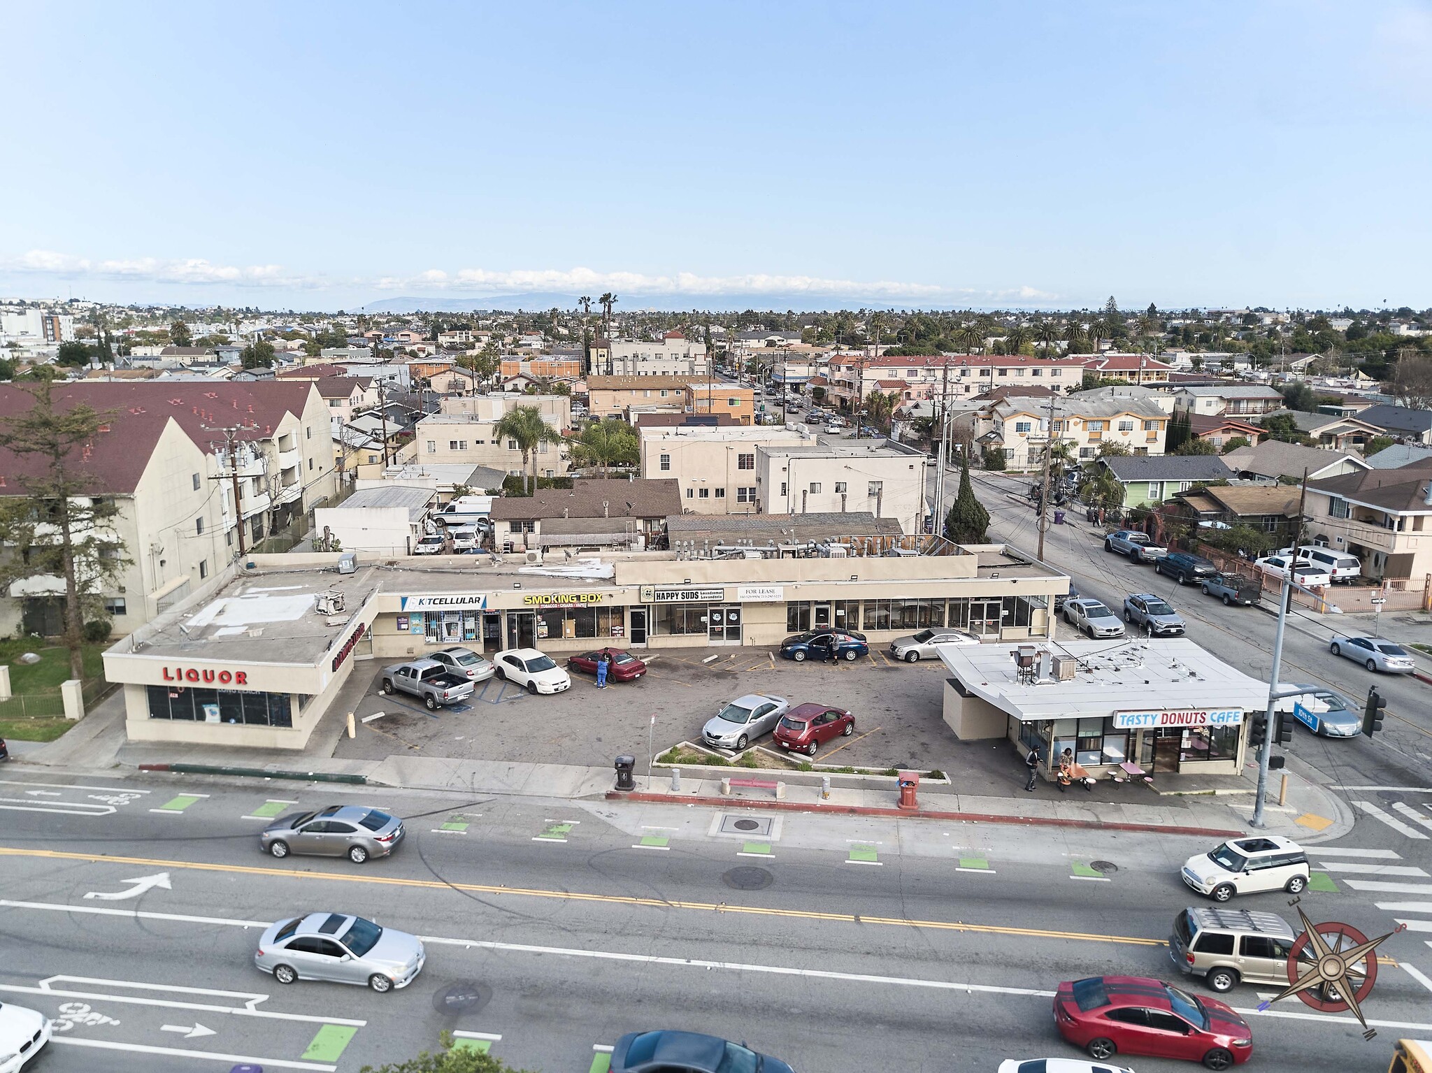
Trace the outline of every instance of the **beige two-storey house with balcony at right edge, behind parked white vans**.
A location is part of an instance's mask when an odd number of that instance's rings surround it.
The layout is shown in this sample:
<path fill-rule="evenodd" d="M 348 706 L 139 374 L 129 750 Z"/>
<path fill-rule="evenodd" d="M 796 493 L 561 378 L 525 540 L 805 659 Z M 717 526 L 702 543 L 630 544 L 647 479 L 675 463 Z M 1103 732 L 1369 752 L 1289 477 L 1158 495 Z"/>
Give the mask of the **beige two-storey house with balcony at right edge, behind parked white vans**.
<path fill-rule="evenodd" d="M 1432 574 L 1432 462 L 1360 469 L 1307 482 L 1306 532 L 1362 561 L 1369 578 L 1428 584 Z"/>

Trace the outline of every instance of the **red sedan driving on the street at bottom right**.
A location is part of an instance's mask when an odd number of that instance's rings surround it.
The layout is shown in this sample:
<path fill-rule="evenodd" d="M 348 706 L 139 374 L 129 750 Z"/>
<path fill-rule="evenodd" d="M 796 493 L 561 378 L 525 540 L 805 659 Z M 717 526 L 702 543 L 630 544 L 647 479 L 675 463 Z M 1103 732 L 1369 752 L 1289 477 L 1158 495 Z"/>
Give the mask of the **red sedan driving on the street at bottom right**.
<path fill-rule="evenodd" d="M 1157 1054 L 1227 1069 L 1253 1054 L 1253 1032 L 1232 1006 L 1146 976 L 1061 983 L 1054 1023 L 1060 1036 L 1098 1062 L 1116 1053 Z"/>

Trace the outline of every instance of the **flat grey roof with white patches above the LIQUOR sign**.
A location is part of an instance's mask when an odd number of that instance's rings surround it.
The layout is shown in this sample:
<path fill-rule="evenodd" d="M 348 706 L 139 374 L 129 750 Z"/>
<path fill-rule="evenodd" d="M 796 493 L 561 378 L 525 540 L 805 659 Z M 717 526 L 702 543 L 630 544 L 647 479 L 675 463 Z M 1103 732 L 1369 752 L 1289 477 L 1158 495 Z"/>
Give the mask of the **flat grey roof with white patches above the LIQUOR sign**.
<path fill-rule="evenodd" d="M 182 660 L 315 664 L 352 627 L 352 617 L 378 591 L 374 567 L 255 569 L 229 578 L 203 607 L 169 612 L 145 624 L 112 652 Z M 338 592 L 345 608 L 321 615 L 318 597 Z M 332 619 L 332 625 L 329 625 Z"/>

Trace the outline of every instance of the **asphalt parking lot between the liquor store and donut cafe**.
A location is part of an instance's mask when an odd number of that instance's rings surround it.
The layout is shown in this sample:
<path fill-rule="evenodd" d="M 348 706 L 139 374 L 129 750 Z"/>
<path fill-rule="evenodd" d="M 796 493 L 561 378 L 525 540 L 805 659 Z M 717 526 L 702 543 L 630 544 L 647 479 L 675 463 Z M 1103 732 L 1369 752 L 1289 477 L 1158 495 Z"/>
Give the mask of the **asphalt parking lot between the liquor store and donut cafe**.
<path fill-rule="evenodd" d="M 659 754 L 683 740 L 699 741 L 706 720 L 748 692 L 785 697 L 790 707 L 811 701 L 855 714 L 855 734 L 822 745 L 818 764 L 949 771 L 967 767 L 967 754 L 985 754 L 979 757 L 985 761 L 991 750 L 1004 751 L 998 743 L 955 740 L 941 718 L 944 665 L 935 660 L 901 664 L 872 652 L 838 665 L 796 664 L 758 648 L 652 652 L 643 658 L 649 671 L 634 682 L 597 690 L 591 677 L 573 674 L 566 692 L 534 697 L 493 678 L 477 687 L 468 704 L 435 712 L 415 698 L 379 694 L 379 668 L 374 667 L 374 680 L 355 708 L 358 737 L 344 738 L 337 755 L 381 760 L 411 750 L 468 760 L 609 765 L 617 754 L 632 753 L 644 767 L 652 715 Z M 379 711 L 381 718 L 361 721 Z M 769 747 L 770 737 L 756 744 Z M 1022 768 L 1012 767 L 1018 764 L 1012 751 L 1008 763 L 1008 777 L 1020 777 Z"/>

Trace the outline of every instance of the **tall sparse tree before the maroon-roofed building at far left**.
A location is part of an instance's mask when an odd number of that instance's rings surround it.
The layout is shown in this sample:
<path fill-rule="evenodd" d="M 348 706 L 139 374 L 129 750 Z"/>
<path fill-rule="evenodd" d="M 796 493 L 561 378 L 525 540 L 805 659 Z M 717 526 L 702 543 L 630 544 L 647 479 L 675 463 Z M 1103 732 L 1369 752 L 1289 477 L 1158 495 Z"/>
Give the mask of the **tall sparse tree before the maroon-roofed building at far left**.
<path fill-rule="evenodd" d="M 117 585 L 129 565 L 113 532 L 119 508 L 93 495 L 95 478 L 84 466 L 109 416 L 56 399 L 53 373 L 21 391 L 33 403 L 0 418 L 0 449 L 33 472 L 13 478 L 23 495 L 0 499 L 0 542 L 13 549 L 0 559 L 0 585 L 9 591 L 27 578 L 60 579 L 70 677 L 83 678 L 84 621 L 99 617 L 105 589 Z"/>

